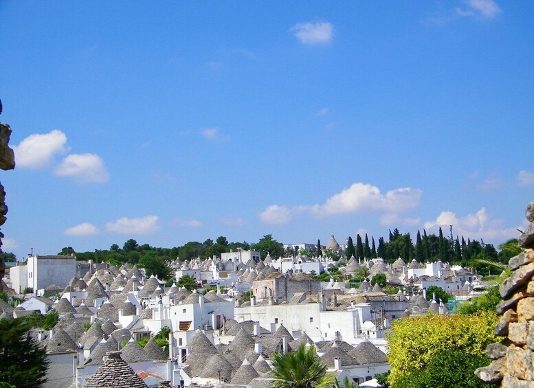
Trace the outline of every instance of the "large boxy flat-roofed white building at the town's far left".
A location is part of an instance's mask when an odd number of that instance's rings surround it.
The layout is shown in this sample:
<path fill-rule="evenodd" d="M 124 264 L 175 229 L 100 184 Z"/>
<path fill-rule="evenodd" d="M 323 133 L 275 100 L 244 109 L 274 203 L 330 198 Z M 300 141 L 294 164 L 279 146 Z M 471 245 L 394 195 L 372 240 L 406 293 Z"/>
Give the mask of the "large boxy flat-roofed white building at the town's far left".
<path fill-rule="evenodd" d="M 64 288 L 76 274 L 76 257 L 62 255 L 27 258 L 27 286 L 37 290 L 56 284 Z"/>

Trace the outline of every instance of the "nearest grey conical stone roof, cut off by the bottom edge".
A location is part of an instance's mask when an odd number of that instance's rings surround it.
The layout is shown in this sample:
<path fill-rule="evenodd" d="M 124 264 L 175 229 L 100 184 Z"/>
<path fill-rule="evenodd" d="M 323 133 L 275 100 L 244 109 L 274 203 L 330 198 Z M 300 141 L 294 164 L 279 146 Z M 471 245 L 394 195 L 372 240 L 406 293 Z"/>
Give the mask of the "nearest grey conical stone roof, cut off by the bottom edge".
<path fill-rule="evenodd" d="M 109 357 L 85 380 L 84 388 L 148 388 L 142 378 L 120 357 L 120 352 L 108 352 Z"/>

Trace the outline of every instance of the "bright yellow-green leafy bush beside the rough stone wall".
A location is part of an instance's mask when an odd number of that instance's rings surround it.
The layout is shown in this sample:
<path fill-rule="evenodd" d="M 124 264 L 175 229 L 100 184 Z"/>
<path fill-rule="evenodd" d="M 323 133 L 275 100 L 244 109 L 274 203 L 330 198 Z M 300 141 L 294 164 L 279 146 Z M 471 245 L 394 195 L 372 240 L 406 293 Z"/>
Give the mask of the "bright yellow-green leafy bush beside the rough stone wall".
<path fill-rule="evenodd" d="M 487 345 L 500 340 L 493 334 L 497 321 L 496 313 L 487 311 L 478 315 L 425 315 L 393 321 L 387 334 L 387 358 L 391 365 L 388 383 L 399 388 L 482 386 L 480 380 L 470 376 L 474 376 L 476 367 L 489 364 L 483 356 Z M 447 385 L 439 383 L 439 376 L 442 380 L 446 378 Z M 429 385 L 429 381 L 438 385 Z"/>

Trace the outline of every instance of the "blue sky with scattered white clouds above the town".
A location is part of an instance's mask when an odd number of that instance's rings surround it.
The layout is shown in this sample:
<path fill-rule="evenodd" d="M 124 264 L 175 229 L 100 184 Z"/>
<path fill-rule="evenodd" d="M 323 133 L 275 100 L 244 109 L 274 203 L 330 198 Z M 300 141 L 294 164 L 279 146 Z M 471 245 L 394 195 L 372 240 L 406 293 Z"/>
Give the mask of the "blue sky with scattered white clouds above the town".
<path fill-rule="evenodd" d="M 516 237 L 533 19 L 491 0 L 0 1 L 3 248 Z"/>

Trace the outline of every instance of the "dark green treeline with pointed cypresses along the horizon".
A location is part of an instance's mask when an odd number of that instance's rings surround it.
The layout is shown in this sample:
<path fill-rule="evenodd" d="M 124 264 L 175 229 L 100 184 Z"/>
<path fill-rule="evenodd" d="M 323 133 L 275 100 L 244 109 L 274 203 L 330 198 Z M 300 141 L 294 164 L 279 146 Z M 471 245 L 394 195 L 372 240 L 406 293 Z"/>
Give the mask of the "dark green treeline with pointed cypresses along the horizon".
<path fill-rule="evenodd" d="M 316 247 L 324 247 L 324 244 L 318 240 Z M 228 242 L 225 236 L 219 236 L 216 240 L 208 238 L 204 242 L 190 241 L 181 247 L 173 248 L 138 244 L 136 240 L 131 238 L 124 242 L 122 248 L 118 244 L 112 244 L 109 249 L 78 252 L 72 247 L 64 247 L 58 254 L 71 255 L 74 253 L 76 260 L 110 262 L 115 266 L 121 266 L 125 263 L 138 264 L 146 269 L 153 268 L 155 270 L 148 271 L 149 274 L 168 275 L 168 271 L 164 271 L 164 267 L 168 266 L 168 262 L 177 258 L 181 262 L 196 258 L 205 260 L 214 255 L 220 256 L 221 253 L 236 251 L 238 248 L 258 251 L 263 259 L 267 256 L 267 253 L 274 259 L 280 256 L 287 257 L 301 253 L 308 256 L 324 254 L 335 261 L 341 260 L 345 262 L 352 255 L 361 260 L 361 262 L 371 258 L 383 258 L 388 263 L 392 263 L 398 258 L 403 259 L 406 263 L 413 259 L 418 262 L 441 260 L 441 262 L 472 267 L 482 275 L 487 275 L 491 271 L 491 266 L 487 262 L 507 264 L 510 258 L 518 254 L 518 244 L 515 239 L 500 244 L 500 251 L 497 251 L 492 244 L 486 244 L 482 239 L 471 240 L 467 238 L 466 240 L 464 236 L 453 237 L 452 227 L 449 229 L 448 236 L 443 235 L 441 228 L 437 236 L 434 233 L 427 234 L 424 229 L 423 233 L 417 231 L 415 242 L 412 241 L 410 233 L 401 234 L 397 228 L 389 231 L 388 241 L 383 237 L 379 237 L 377 243 L 375 243 L 374 236 L 371 236 L 369 240 L 367 233 L 363 238 L 358 234 L 356 243 L 353 242 L 352 237 L 348 238 L 344 257 L 325 249 L 320 249 L 319 251 L 316 249 L 313 251 L 307 249 L 299 251 L 298 248 L 284 249 L 283 244 L 275 240 L 271 234 L 263 236 L 254 244 L 249 244 L 246 241 Z M 12 253 L 4 253 L 4 255 L 14 258 Z"/>

